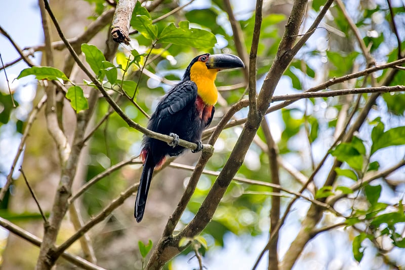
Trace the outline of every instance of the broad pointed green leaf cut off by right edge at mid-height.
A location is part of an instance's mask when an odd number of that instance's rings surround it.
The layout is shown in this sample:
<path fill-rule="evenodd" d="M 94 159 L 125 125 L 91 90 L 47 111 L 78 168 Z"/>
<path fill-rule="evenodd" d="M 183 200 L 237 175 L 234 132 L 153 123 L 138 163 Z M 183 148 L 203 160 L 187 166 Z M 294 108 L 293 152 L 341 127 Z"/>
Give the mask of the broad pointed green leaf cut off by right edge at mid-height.
<path fill-rule="evenodd" d="M 379 125 L 377 125 L 374 129 L 376 129 L 378 126 Z M 374 136 L 376 137 L 377 135 L 375 134 Z M 381 148 L 402 144 L 405 144 L 405 127 L 396 127 L 389 129 L 386 132 L 380 134 L 378 139 L 373 139 L 373 145 L 371 146 L 371 155 L 373 155 L 373 153 Z"/>

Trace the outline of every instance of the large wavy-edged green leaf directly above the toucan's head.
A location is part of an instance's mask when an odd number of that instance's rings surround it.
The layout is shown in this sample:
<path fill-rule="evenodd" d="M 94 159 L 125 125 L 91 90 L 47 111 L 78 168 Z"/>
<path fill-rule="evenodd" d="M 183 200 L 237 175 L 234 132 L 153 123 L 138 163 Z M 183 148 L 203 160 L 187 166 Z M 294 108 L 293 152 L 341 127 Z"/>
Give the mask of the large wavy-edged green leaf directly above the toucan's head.
<path fill-rule="evenodd" d="M 212 48 L 216 42 L 217 38 L 212 32 L 190 28 L 188 21 L 181 21 L 179 27 L 171 23 L 158 36 L 158 43 L 173 43 L 194 48 Z"/>

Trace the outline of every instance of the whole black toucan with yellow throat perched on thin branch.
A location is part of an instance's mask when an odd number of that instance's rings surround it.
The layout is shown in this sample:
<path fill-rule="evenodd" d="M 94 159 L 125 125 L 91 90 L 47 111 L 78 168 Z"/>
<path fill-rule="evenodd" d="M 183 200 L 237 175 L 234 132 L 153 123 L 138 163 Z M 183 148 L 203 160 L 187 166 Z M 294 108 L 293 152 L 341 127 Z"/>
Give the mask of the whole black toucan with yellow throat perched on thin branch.
<path fill-rule="evenodd" d="M 183 80 L 161 98 L 151 115 L 147 128 L 173 137 L 172 143 L 143 136 L 141 158 L 143 170 L 138 186 L 134 216 L 143 218 L 146 198 L 154 169 L 160 169 L 167 156 L 178 156 L 185 148 L 178 145 L 179 138 L 195 142 L 198 152 L 203 149 L 201 134 L 214 117 L 218 99 L 215 86 L 217 73 L 223 69 L 245 67 L 239 57 L 232 54 L 201 54 L 191 60 Z"/>

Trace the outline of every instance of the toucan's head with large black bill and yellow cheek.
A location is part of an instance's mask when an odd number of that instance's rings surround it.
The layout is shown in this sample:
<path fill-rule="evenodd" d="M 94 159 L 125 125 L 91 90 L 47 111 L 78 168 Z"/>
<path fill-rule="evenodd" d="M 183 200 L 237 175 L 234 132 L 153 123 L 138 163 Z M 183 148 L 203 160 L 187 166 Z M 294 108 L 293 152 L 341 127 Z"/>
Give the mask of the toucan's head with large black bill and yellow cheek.
<path fill-rule="evenodd" d="M 191 77 L 196 74 L 207 74 L 210 78 L 215 77 L 217 72 L 223 69 L 245 67 L 242 60 L 239 57 L 232 54 L 213 54 L 209 53 L 201 54 L 194 57 L 184 72 L 183 81 L 190 80 Z M 195 74 L 193 74 L 195 73 Z"/>

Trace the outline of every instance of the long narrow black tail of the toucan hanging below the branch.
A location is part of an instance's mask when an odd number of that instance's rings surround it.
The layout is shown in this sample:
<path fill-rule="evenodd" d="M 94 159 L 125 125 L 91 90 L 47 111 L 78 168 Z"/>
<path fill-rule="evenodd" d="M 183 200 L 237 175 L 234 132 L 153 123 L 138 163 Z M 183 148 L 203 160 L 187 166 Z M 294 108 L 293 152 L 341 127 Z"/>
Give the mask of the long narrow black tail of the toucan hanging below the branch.
<path fill-rule="evenodd" d="M 148 197 L 148 191 L 150 186 L 150 180 L 152 179 L 153 169 L 155 164 L 150 152 L 146 152 L 146 159 L 143 164 L 143 170 L 141 175 L 141 181 L 138 186 L 138 192 L 136 194 L 135 212 L 134 216 L 137 222 L 141 222 L 143 218 L 143 212 L 145 211 L 146 198 Z"/>

